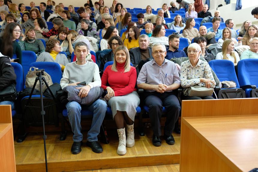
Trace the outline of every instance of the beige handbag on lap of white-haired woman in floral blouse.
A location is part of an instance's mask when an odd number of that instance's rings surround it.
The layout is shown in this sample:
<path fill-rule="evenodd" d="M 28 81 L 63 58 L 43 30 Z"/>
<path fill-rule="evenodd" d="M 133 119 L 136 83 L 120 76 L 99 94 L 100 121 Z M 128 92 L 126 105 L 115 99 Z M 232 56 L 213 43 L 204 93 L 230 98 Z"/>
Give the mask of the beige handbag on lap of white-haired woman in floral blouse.
<path fill-rule="evenodd" d="M 188 96 L 196 96 L 196 97 L 204 97 L 204 96 L 211 96 L 213 93 L 213 88 L 207 88 L 205 86 L 199 86 L 194 85 L 190 86 L 187 89 L 184 90 L 184 95 L 186 95 L 186 92 L 188 93 Z"/>

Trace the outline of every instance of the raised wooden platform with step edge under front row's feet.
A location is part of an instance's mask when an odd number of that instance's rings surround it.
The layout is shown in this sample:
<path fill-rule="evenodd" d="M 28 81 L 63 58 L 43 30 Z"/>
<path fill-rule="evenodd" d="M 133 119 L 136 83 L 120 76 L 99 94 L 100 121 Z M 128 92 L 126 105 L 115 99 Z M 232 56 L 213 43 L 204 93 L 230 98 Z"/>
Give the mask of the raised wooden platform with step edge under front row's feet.
<path fill-rule="evenodd" d="M 162 165 L 179 164 L 179 134 L 173 134 L 176 140 L 175 145 L 168 145 L 162 140 L 162 145 L 156 147 L 152 145 L 151 129 L 145 128 L 145 131 L 147 132 L 146 135 L 140 137 L 137 130 L 135 130 L 135 146 L 127 148 L 127 154 L 123 156 L 116 153 L 118 136 L 117 131 L 114 129 L 107 130 L 110 143 L 101 143 L 104 152 L 99 154 L 92 152 L 92 150 L 86 146 L 85 139 L 82 152 L 73 155 L 70 152 L 73 143 L 71 132 L 67 134 L 67 138 L 64 141 L 59 141 L 59 133 L 48 132 L 46 133 L 48 169 L 52 172 L 141 167 L 143 171 L 147 168 L 153 168 L 154 170 L 151 171 L 157 171 L 155 169 L 159 170 L 165 168 L 165 166 Z M 83 135 L 86 137 L 86 134 L 85 131 Z M 163 138 L 161 137 L 161 139 Z M 17 171 L 45 171 L 42 133 L 30 133 L 24 142 L 15 142 L 14 146 Z M 156 165 L 161 166 L 152 167 Z M 172 166 L 166 166 L 166 168 L 170 169 Z"/>

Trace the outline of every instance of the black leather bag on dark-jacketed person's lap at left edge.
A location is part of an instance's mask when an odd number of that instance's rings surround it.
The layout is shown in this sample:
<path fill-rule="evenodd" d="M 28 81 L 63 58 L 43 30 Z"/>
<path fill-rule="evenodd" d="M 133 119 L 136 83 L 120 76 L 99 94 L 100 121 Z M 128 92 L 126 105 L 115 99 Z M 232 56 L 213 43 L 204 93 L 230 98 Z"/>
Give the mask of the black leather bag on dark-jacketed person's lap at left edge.
<path fill-rule="evenodd" d="M 14 101 L 16 96 L 17 92 L 14 83 L 0 91 L 0 101 Z"/>

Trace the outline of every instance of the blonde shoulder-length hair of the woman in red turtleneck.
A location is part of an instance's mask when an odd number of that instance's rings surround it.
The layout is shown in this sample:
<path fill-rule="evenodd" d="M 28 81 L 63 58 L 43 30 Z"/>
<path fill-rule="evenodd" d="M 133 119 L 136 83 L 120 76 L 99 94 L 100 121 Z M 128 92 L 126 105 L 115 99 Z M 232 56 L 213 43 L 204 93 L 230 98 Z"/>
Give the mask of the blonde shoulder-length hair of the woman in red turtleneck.
<path fill-rule="evenodd" d="M 130 69 L 131 69 L 131 66 L 130 66 L 130 63 L 131 63 L 131 61 L 130 61 L 130 54 L 129 54 L 128 49 L 127 49 L 124 45 L 120 45 L 120 46 L 118 46 L 118 47 L 116 48 L 116 50 L 115 50 L 115 52 L 114 52 L 114 63 L 113 63 L 113 65 L 112 65 L 112 67 L 111 67 L 111 70 L 112 70 L 112 71 L 115 71 L 115 72 L 118 71 L 117 68 L 116 68 L 116 52 L 118 52 L 119 50 L 123 50 L 123 51 L 125 52 L 125 54 L 126 54 L 126 60 L 125 60 L 125 66 L 124 66 L 124 67 L 125 67 L 124 73 L 125 73 L 125 72 L 129 72 Z"/>

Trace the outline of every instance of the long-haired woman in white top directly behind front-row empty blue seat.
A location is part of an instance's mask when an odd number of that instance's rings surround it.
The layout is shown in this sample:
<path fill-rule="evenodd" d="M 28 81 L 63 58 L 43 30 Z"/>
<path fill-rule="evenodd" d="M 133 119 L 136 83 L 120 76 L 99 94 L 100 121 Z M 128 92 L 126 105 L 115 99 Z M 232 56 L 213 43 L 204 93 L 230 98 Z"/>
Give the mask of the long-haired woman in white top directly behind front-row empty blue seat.
<path fill-rule="evenodd" d="M 227 39 L 222 44 L 222 52 L 217 53 L 216 60 L 230 60 L 237 65 L 237 62 L 240 60 L 239 55 L 234 51 L 235 42 L 232 39 Z"/>

